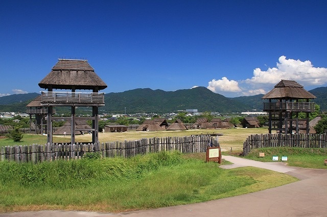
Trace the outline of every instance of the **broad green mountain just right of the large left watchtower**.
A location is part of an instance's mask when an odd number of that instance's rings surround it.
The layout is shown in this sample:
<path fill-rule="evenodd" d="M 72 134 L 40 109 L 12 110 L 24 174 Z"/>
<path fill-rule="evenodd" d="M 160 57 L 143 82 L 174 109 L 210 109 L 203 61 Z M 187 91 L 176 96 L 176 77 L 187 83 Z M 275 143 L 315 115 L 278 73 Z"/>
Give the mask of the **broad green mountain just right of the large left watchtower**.
<path fill-rule="evenodd" d="M 249 107 L 236 100 L 214 93 L 205 87 L 162 91 L 146 89 L 105 94 L 108 113 L 169 113 L 197 109 L 199 112 L 241 112 Z"/>

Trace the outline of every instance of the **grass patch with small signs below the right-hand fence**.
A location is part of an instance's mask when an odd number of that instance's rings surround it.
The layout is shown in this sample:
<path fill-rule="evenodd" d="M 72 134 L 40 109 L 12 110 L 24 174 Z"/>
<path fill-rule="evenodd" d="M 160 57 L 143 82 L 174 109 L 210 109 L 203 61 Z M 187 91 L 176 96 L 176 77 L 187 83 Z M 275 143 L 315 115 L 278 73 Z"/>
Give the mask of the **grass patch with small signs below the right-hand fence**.
<path fill-rule="evenodd" d="M 265 157 L 259 157 L 260 152 L 264 152 Z M 327 159 L 327 148 L 258 148 L 252 149 L 245 158 L 270 162 L 273 161 L 272 156 L 278 156 L 278 161 L 282 161 L 282 156 L 287 156 L 285 162 L 289 166 L 327 169 L 324 165 L 324 159 Z"/>

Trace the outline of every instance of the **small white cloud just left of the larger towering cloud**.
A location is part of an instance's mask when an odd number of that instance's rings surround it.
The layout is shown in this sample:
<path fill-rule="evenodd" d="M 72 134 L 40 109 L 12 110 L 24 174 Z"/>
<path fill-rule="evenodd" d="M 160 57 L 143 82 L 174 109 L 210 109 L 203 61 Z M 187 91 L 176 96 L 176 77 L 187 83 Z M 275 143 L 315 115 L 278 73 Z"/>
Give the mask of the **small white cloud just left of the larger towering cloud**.
<path fill-rule="evenodd" d="M 228 80 L 227 77 L 222 77 L 219 80 L 213 79 L 209 82 L 207 89 L 212 92 L 240 92 L 239 83 L 236 80 Z"/>

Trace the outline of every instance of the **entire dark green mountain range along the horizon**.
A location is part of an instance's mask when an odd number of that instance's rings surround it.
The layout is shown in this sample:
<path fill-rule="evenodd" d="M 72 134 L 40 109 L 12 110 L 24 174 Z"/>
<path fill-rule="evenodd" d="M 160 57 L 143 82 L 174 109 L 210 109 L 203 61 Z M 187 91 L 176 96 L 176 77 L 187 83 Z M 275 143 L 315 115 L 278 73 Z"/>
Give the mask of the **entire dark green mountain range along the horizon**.
<path fill-rule="evenodd" d="M 312 101 L 320 105 L 320 110 L 326 111 L 327 87 L 316 88 L 309 92 L 317 97 Z M 0 97 L 0 112 L 26 112 L 26 105 L 38 95 L 38 93 L 28 93 Z M 105 94 L 105 106 L 100 110 L 101 113 L 108 114 L 124 114 L 125 111 L 127 114 L 162 114 L 177 113 L 186 109 L 217 113 L 261 111 L 264 102 L 261 99 L 262 96 L 263 94 L 228 98 L 205 87 L 177 91 L 144 88 L 107 93 Z"/>

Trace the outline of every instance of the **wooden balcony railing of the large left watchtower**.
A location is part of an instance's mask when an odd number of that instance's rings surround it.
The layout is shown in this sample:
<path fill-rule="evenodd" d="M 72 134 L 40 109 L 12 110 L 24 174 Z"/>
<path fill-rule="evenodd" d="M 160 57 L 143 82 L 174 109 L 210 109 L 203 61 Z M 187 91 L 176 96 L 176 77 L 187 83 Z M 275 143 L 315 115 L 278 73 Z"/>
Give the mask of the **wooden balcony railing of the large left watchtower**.
<path fill-rule="evenodd" d="M 54 106 L 103 106 L 104 93 L 41 92 L 41 105 Z"/>

